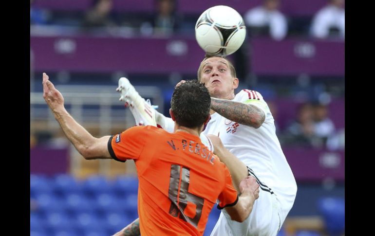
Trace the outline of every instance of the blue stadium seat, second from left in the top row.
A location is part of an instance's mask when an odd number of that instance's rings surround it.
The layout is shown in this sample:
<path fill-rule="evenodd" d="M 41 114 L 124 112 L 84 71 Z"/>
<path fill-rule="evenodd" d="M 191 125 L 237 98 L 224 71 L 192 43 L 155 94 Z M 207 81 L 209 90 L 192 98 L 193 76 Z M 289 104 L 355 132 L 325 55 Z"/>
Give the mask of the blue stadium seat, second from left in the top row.
<path fill-rule="evenodd" d="M 80 183 L 69 174 L 59 174 L 54 177 L 56 192 L 66 195 L 69 193 L 80 193 L 82 187 Z"/>

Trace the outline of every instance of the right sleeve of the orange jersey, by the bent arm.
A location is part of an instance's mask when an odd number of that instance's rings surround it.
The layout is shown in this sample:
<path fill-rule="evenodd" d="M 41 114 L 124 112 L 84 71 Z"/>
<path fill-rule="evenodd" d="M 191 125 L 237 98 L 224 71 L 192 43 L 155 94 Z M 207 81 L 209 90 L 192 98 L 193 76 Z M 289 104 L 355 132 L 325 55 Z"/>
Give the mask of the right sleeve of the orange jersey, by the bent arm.
<path fill-rule="evenodd" d="M 225 164 L 223 164 L 224 167 L 224 173 L 225 173 L 225 185 L 223 191 L 220 193 L 218 200 L 220 201 L 217 205 L 217 208 L 219 210 L 223 209 L 227 206 L 234 206 L 237 204 L 238 201 L 238 194 L 237 191 L 234 189 L 232 184 L 232 177 L 230 176 L 228 168 L 226 168 Z"/>

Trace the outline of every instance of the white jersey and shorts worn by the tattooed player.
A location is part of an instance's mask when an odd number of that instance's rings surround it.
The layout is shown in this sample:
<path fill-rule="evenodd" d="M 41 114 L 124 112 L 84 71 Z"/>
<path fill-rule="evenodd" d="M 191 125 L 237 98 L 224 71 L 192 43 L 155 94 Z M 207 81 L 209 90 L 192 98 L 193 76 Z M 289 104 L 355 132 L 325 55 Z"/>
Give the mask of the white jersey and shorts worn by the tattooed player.
<path fill-rule="evenodd" d="M 260 183 L 261 193 L 260 198 L 254 203 L 250 217 L 245 222 L 232 221 L 227 214 L 224 217 L 221 213 L 211 236 L 271 236 L 271 232 L 273 235 L 280 230 L 281 224 L 292 208 L 297 184 L 276 136 L 274 118 L 262 95 L 257 91 L 242 90 L 232 101 L 251 104 L 262 109 L 265 114 L 262 126 L 253 128 L 241 125 L 216 112 L 211 115 L 203 132 L 206 135 L 218 135 L 224 146 L 251 168 L 250 172 L 253 172 L 262 183 Z M 261 200 L 261 197 L 264 200 Z M 267 204 L 277 206 L 274 208 L 268 206 L 270 208 L 265 209 L 260 206 L 261 203 L 264 203 L 262 204 L 264 207 L 267 207 Z M 273 225 L 269 225 L 271 221 L 275 221 L 275 217 L 278 218 L 277 224 L 272 222 Z M 239 227 L 243 229 L 238 229 Z"/>

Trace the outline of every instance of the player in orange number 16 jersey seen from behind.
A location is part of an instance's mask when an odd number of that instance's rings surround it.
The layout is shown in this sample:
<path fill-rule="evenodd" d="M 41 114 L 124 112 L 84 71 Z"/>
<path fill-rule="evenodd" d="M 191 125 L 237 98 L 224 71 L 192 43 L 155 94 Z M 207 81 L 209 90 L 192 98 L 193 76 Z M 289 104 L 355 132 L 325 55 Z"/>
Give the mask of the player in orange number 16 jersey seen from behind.
<path fill-rule="evenodd" d="M 43 97 L 67 138 L 85 159 L 133 159 L 137 168 L 138 214 L 142 236 L 202 236 L 216 200 L 232 220 L 244 221 L 259 197 L 255 178 L 232 185 L 225 164 L 202 144 L 209 120 L 210 95 L 203 84 L 175 88 L 169 111 L 174 133 L 153 126 L 94 138 L 64 108 L 64 98 L 43 73 Z"/>

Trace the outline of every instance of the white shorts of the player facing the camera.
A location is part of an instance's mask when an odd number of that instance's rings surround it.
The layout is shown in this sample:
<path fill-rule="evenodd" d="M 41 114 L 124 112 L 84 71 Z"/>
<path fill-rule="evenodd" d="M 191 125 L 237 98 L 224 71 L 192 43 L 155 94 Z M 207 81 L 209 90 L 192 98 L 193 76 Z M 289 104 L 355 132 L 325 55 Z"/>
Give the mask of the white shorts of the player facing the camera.
<path fill-rule="evenodd" d="M 259 198 L 244 222 L 231 220 L 224 208 L 210 236 L 276 236 L 285 219 L 280 201 L 271 189 L 262 186 L 259 190 Z"/>

